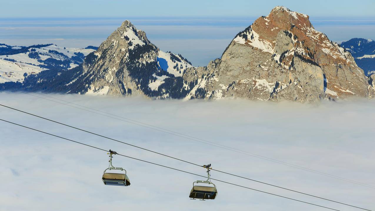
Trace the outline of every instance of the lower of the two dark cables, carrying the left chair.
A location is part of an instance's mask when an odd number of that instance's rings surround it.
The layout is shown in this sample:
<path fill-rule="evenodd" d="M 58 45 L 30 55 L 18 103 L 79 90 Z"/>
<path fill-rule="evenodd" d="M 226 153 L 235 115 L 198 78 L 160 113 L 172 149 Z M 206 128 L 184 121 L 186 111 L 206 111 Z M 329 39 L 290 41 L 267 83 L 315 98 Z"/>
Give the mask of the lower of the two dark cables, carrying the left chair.
<path fill-rule="evenodd" d="M 60 139 L 68 140 L 68 141 L 71 141 L 71 142 L 79 143 L 79 144 L 84 145 L 84 146 L 89 146 L 89 147 L 92 147 L 92 148 L 95 148 L 95 149 L 99 149 L 101 151 L 110 152 L 108 150 L 101 149 L 101 148 L 98 148 L 96 146 L 92 146 L 92 145 L 88 145 L 88 144 L 85 144 L 85 143 L 77 142 L 77 141 L 74 141 L 74 140 L 71 140 L 71 139 L 67 139 L 67 138 L 64 138 L 64 137 L 61 137 L 61 136 L 57 136 L 57 135 L 54 135 L 54 134 L 51 134 L 51 133 L 47 133 L 47 132 L 44 132 L 44 131 L 41 131 L 41 130 L 30 128 L 30 127 L 27 127 L 27 126 L 24 126 L 24 125 L 20 125 L 20 124 L 14 123 L 14 122 L 6 121 L 4 119 L 0 119 L 0 120 L 3 121 L 3 122 L 8 122 L 8 123 L 13 124 L 13 125 L 18 125 L 20 127 L 28 128 L 30 130 L 34 130 L 34 131 L 37 131 L 37 132 L 40 132 L 40 133 L 48 134 L 50 136 L 58 137 Z M 130 156 L 127 156 L 127 155 L 122 155 L 122 154 L 118 154 L 118 153 L 117 153 L 117 155 L 120 155 L 120 156 L 123 156 L 123 157 L 127 157 L 127 158 L 131 158 L 131 159 L 138 160 L 138 161 L 142 161 L 142 162 L 145 162 L 145 163 L 150 163 L 150 164 L 154 164 L 154 165 L 157 165 L 157 166 L 165 167 L 165 168 L 168 168 L 168 169 L 177 170 L 177 171 L 188 173 L 188 174 L 191 174 L 191 175 L 201 176 L 201 177 L 207 178 L 206 176 L 198 175 L 198 174 L 187 172 L 187 171 L 180 170 L 180 169 L 175 169 L 175 168 L 172 168 L 172 167 L 169 167 L 169 166 L 164 166 L 164 165 L 161 165 L 161 164 L 157 164 L 157 163 L 153 163 L 153 162 L 150 162 L 150 161 L 141 160 L 141 159 L 138 159 L 138 158 L 133 158 L 133 157 L 130 157 Z M 211 179 L 213 179 L 213 178 L 211 178 Z M 269 192 L 266 192 L 266 191 L 257 190 L 257 189 L 254 189 L 254 188 L 245 187 L 245 186 L 234 184 L 234 183 L 231 183 L 231 182 L 222 181 L 222 180 L 219 180 L 219 179 L 213 179 L 213 180 L 219 181 L 219 182 L 223 182 L 223 183 L 226 183 L 226 184 L 230 184 L 230 185 L 235 185 L 237 187 L 243 187 L 243 188 L 247 188 L 247 189 L 250 189 L 250 190 L 259 191 L 261 193 L 267 193 L 267 194 L 270 194 L 270 195 L 273 195 L 273 196 L 279 196 L 279 197 L 282 197 L 282 198 L 285 198 L 285 199 L 294 200 L 294 201 L 297 201 L 297 202 L 306 203 L 306 204 L 309 204 L 309 205 L 314 205 L 314 206 L 319 206 L 319 207 L 326 208 L 326 209 L 332 209 L 332 210 L 340 211 L 339 209 L 333 209 L 333 208 L 329 208 L 327 206 L 321 206 L 321 205 L 317 205 L 317 204 L 314 204 L 314 203 L 309 203 L 309 202 L 305 202 L 305 201 L 302 201 L 302 200 L 293 199 L 293 198 L 290 198 L 290 197 L 281 196 L 281 195 L 278 195 L 278 194 L 273 194 L 273 193 L 269 193 Z"/>

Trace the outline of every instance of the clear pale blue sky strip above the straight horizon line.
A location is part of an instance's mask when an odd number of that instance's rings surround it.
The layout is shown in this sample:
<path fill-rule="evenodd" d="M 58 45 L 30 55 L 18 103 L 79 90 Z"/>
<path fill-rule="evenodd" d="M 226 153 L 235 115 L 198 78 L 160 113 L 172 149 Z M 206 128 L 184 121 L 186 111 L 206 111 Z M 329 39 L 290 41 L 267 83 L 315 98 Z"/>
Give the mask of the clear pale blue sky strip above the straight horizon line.
<path fill-rule="evenodd" d="M 260 16 L 277 5 L 314 16 L 374 16 L 374 0 L 12 0 L 0 17 Z M 7 9 L 4 9 L 7 8 Z"/>

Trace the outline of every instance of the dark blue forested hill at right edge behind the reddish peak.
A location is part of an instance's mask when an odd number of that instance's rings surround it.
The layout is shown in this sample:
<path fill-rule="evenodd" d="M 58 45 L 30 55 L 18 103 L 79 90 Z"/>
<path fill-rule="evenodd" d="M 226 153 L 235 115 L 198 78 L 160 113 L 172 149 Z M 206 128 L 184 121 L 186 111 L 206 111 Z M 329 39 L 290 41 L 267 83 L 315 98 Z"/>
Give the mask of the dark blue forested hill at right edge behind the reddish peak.
<path fill-rule="evenodd" d="M 341 43 L 349 51 L 357 65 L 365 71 L 366 75 L 375 72 L 375 41 L 371 39 L 353 38 Z"/>

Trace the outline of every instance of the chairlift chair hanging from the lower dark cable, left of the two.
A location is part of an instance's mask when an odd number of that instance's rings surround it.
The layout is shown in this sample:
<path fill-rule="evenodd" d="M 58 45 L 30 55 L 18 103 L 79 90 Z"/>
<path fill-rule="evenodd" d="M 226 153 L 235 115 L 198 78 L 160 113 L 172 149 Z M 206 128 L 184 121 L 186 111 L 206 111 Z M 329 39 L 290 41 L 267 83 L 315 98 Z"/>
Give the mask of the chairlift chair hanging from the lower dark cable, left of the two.
<path fill-rule="evenodd" d="M 110 164 L 107 169 L 104 170 L 102 180 L 105 185 L 117 185 L 117 186 L 129 186 L 130 180 L 126 175 L 126 170 L 119 167 L 112 166 L 112 155 L 117 154 L 114 151 L 110 150 L 110 153 L 107 153 L 110 155 Z M 125 171 L 124 174 L 122 173 L 106 173 L 107 170 L 121 170 Z"/>

